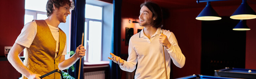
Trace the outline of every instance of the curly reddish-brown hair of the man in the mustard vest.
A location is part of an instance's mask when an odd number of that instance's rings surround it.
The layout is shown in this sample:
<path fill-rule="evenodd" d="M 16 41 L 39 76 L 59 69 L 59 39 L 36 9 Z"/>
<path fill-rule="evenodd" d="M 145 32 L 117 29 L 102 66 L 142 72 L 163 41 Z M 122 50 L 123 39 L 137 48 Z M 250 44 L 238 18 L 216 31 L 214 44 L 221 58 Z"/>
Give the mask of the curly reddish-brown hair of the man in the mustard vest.
<path fill-rule="evenodd" d="M 70 6 L 70 10 L 75 8 L 73 0 L 48 0 L 46 4 L 47 17 L 53 14 L 53 4 L 56 8 L 60 8 L 68 4 Z"/>

